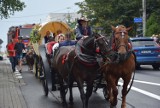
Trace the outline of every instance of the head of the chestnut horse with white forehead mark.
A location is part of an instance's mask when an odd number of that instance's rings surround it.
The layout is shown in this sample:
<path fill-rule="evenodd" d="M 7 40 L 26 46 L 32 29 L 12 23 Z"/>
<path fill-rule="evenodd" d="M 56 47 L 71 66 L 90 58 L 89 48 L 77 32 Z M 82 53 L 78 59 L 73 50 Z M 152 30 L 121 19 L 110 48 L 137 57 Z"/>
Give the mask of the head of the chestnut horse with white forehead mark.
<path fill-rule="evenodd" d="M 125 60 L 128 53 L 128 31 L 131 27 L 126 28 L 124 25 L 119 25 L 117 27 L 111 26 L 113 30 L 113 43 L 114 50 L 118 53 L 118 58 L 120 60 Z"/>

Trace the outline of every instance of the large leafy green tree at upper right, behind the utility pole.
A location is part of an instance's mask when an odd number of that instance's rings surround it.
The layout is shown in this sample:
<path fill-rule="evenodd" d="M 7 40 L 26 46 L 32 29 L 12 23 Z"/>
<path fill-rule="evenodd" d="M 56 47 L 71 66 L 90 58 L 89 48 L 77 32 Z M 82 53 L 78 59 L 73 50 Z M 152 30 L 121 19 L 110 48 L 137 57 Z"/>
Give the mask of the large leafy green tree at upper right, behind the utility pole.
<path fill-rule="evenodd" d="M 79 13 L 92 19 L 92 25 L 103 27 L 108 34 L 111 33 L 110 25 L 123 24 L 136 28 L 133 19 L 142 17 L 142 0 L 85 0 L 76 5 L 81 9 Z M 147 19 L 155 11 L 160 13 L 160 0 L 146 0 L 146 8 Z M 134 36 L 135 32 L 133 29 L 129 35 Z"/>

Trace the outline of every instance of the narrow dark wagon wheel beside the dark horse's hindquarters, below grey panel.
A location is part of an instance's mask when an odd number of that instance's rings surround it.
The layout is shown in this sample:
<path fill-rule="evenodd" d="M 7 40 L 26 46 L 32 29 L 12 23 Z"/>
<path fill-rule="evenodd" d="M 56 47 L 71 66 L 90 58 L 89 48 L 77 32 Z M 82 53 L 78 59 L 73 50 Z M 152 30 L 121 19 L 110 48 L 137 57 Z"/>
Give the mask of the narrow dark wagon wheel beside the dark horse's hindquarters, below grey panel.
<path fill-rule="evenodd" d="M 44 94 L 45 96 L 48 96 L 48 83 L 47 83 L 47 80 L 46 80 L 46 74 L 45 74 L 45 70 L 44 70 L 44 65 L 43 63 L 41 62 L 41 66 L 40 66 L 40 79 L 42 81 L 42 86 L 43 86 L 43 90 L 44 90 Z"/>

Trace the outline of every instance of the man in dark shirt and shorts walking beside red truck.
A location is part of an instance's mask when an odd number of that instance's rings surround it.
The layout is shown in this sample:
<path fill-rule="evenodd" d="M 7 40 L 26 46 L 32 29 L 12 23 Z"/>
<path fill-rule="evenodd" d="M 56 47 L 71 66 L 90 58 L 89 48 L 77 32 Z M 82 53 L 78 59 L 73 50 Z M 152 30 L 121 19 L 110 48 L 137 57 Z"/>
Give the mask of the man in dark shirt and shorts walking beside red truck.
<path fill-rule="evenodd" d="M 18 70 L 22 72 L 22 59 L 23 50 L 25 50 L 24 43 L 22 43 L 22 37 L 18 37 L 18 42 L 15 44 L 14 49 L 16 51 L 16 59 L 18 60 Z"/>

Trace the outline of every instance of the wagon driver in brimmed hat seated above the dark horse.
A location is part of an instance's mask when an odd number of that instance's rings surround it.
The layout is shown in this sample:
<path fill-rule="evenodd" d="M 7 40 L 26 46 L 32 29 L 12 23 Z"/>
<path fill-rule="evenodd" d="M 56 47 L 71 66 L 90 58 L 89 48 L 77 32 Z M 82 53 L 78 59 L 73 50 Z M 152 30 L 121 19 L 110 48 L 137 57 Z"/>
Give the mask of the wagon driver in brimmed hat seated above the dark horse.
<path fill-rule="evenodd" d="M 76 27 L 76 40 L 80 40 L 82 37 L 87 37 L 92 35 L 91 27 L 89 26 L 89 20 L 84 16 L 78 21 L 78 26 Z"/>

